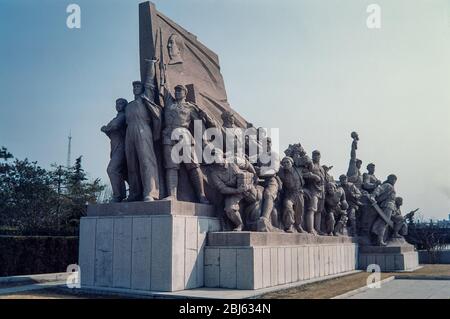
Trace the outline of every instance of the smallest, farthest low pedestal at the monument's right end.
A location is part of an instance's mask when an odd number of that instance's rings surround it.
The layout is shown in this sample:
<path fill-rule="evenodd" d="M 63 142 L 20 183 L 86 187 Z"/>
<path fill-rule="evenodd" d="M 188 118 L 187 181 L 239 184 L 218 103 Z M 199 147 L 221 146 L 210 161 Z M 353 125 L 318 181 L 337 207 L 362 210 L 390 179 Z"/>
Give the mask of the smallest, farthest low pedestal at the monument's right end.
<path fill-rule="evenodd" d="M 419 256 L 414 246 L 407 243 L 398 246 L 361 245 L 358 264 L 361 270 L 376 264 L 382 272 L 412 271 L 419 266 Z"/>

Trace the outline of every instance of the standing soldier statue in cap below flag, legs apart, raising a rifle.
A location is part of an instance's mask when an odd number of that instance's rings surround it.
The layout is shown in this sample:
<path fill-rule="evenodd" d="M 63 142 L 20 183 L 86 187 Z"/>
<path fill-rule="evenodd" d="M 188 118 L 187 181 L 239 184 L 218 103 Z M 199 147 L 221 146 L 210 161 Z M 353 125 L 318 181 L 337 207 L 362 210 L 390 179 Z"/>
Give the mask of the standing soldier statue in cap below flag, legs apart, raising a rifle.
<path fill-rule="evenodd" d="M 180 164 L 183 164 L 188 171 L 198 201 L 208 204 L 209 201 L 206 198 L 203 184 L 203 173 L 200 170 L 195 140 L 190 132 L 190 126 L 196 120 L 205 121 L 207 126 L 216 126 L 216 124 L 205 112 L 186 101 L 187 88 L 184 85 L 175 87 L 174 96 L 168 90 L 167 83 L 164 84 L 163 89 L 165 106 L 162 144 L 168 197 L 177 199 L 179 169 Z M 176 139 L 180 136 L 182 136 L 182 141 Z M 174 148 L 180 142 L 185 143 L 190 150 L 189 154 L 183 154 L 181 159 L 178 157 L 180 154 Z M 172 152 L 172 150 L 175 152 Z"/>

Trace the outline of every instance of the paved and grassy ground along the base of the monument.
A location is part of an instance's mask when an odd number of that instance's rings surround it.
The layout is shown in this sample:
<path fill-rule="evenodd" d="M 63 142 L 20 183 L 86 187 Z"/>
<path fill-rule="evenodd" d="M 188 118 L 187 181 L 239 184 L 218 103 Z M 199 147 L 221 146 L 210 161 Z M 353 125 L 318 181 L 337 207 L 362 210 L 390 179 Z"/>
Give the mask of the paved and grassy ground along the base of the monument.
<path fill-rule="evenodd" d="M 58 275 L 58 274 L 56 274 Z M 67 275 L 67 274 L 66 274 Z M 42 275 L 44 276 L 44 275 Z M 42 277 L 41 276 L 41 277 Z M 147 296 L 132 296 L 114 293 L 84 292 L 71 290 L 60 286 L 62 278 L 53 276 L 37 278 L 26 276 L 27 280 L 12 282 L 0 280 L 0 299 L 104 299 L 104 298 L 269 298 L 269 299 L 328 299 L 336 296 L 340 298 L 450 298 L 450 265 L 425 265 L 414 272 L 383 273 L 381 278 L 386 279 L 395 276 L 397 279 L 383 283 L 380 289 L 370 289 L 363 292 L 354 292 L 355 289 L 364 287 L 368 274 L 354 272 L 346 276 L 327 278 L 327 280 L 303 282 L 300 286 L 285 285 L 276 287 L 283 289 L 274 291 L 236 291 L 228 289 L 194 289 L 175 293 L 156 293 Z M 30 278 L 28 278 L 30 277 Z M 34 279 L 33 279 L 34 278 Z M 51 279 L 54 279 L 53 281 Z M 3 278 L 4 279 L 4 278 Z M 34 282 L 36 281 L 36 282 Z M 42 281 L 42 282 L 39 282 Z M 265 294 L 264 294 L 265 293 Z M 348 293 L 348 297 L 345 294 Z M 263 294 L 260 296 L 260 294 Z"/>

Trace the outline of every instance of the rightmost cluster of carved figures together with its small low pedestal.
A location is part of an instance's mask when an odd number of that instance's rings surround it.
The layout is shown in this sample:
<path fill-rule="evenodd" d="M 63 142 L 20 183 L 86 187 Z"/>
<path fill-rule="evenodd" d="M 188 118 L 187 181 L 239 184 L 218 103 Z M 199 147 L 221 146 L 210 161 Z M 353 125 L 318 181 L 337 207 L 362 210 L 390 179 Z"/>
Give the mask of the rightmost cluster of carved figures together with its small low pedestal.
<path fill-rule="evenodd" d="M 352 138 L 351 167 L 356 159 L 359 136 L 353 132 Z M 353 217 L 351 229 L 358 235 L 359 268 L 365 270 L 369 265 L 378 265 L 381 271 L 416 269 L 419 266 L 417 251 L 403 237 L 407 233 L 404 219 L 415 211 L 402 216 L 400 206 L 403 200 L 396 196 L 395 189 L 397 176 L 390 174 L 386 181 L 381 182 L 375 176 L 373 163 L 367 165 L 367 173 L 362 175 L 362 179 L 359 178 L 360 173 L 347 176 L 342 175 L 339 179 L 350 203 L 349 214 L 358 216 Z M 350 179 L 355 183 L 349 182 Z"/>

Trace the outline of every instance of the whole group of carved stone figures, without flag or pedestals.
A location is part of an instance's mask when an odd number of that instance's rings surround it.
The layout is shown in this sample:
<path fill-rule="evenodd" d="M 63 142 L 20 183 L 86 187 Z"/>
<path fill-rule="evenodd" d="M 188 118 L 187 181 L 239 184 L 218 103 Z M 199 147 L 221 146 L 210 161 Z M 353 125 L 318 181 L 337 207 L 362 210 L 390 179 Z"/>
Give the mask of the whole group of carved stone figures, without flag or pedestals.
<path fill-rule="evenodd" d="M 162 50 L 162 34 L 159 41 Z M 253 133 L 241 138 L 242 153 L 233 148 L 230 156 L 230 150 L 215 148 L 212 164 L 203 164 L 196 152 L 191 152 L 188 160 L 174 160 L 180 140 L 195 148 L 195 121 L 203 128 L 227 132 L 242 128 L 232 111 L 224 110 L 218 121 L 207 109 L 188 101 L 185 85 L 175 83 L 172 93 L 166 68 L 185 63 L 179 43 L 176 34 L 169 37 L 168 64 L 162 61 L 162 51 L 158 58 L 145 59 L 143 81 L 132 83 L 134 100 L 117 99 L 117 116 L 101 128 L 111 140 L 107 172 L 113 202 L 177 200 L 183 167 L 197 202 L 213 202 L 223 211 L 225 230 L 358 236 L 362 243 L 382 246 L 395 238 L 402 240 L 407 233 L 405 220 L 414 212 L 402 216 L 403 200 L 396 196 L 395 175 L 382 182 L 372 163 L 361 173 L 356 132 L 351 133 L 348 171 L 338 180 L 330 175 L 332 167 L 321 164 L 320 151 L 314 150 L 309 157 L 301 143 L 291 144 L 280 160 L 271 149 L 270 137 L 251 124 L 245 129 Z M 231 139 L 236 136 L 232 134 Z M 229 138 L 225 134 L 225 140 Z M 202 140 L 201 147 L 210 142 Z M 256 157 L 252 147 L 258 150 Z M 218 200 L 208 200 L 205 184 L 216 191 Z"/>

